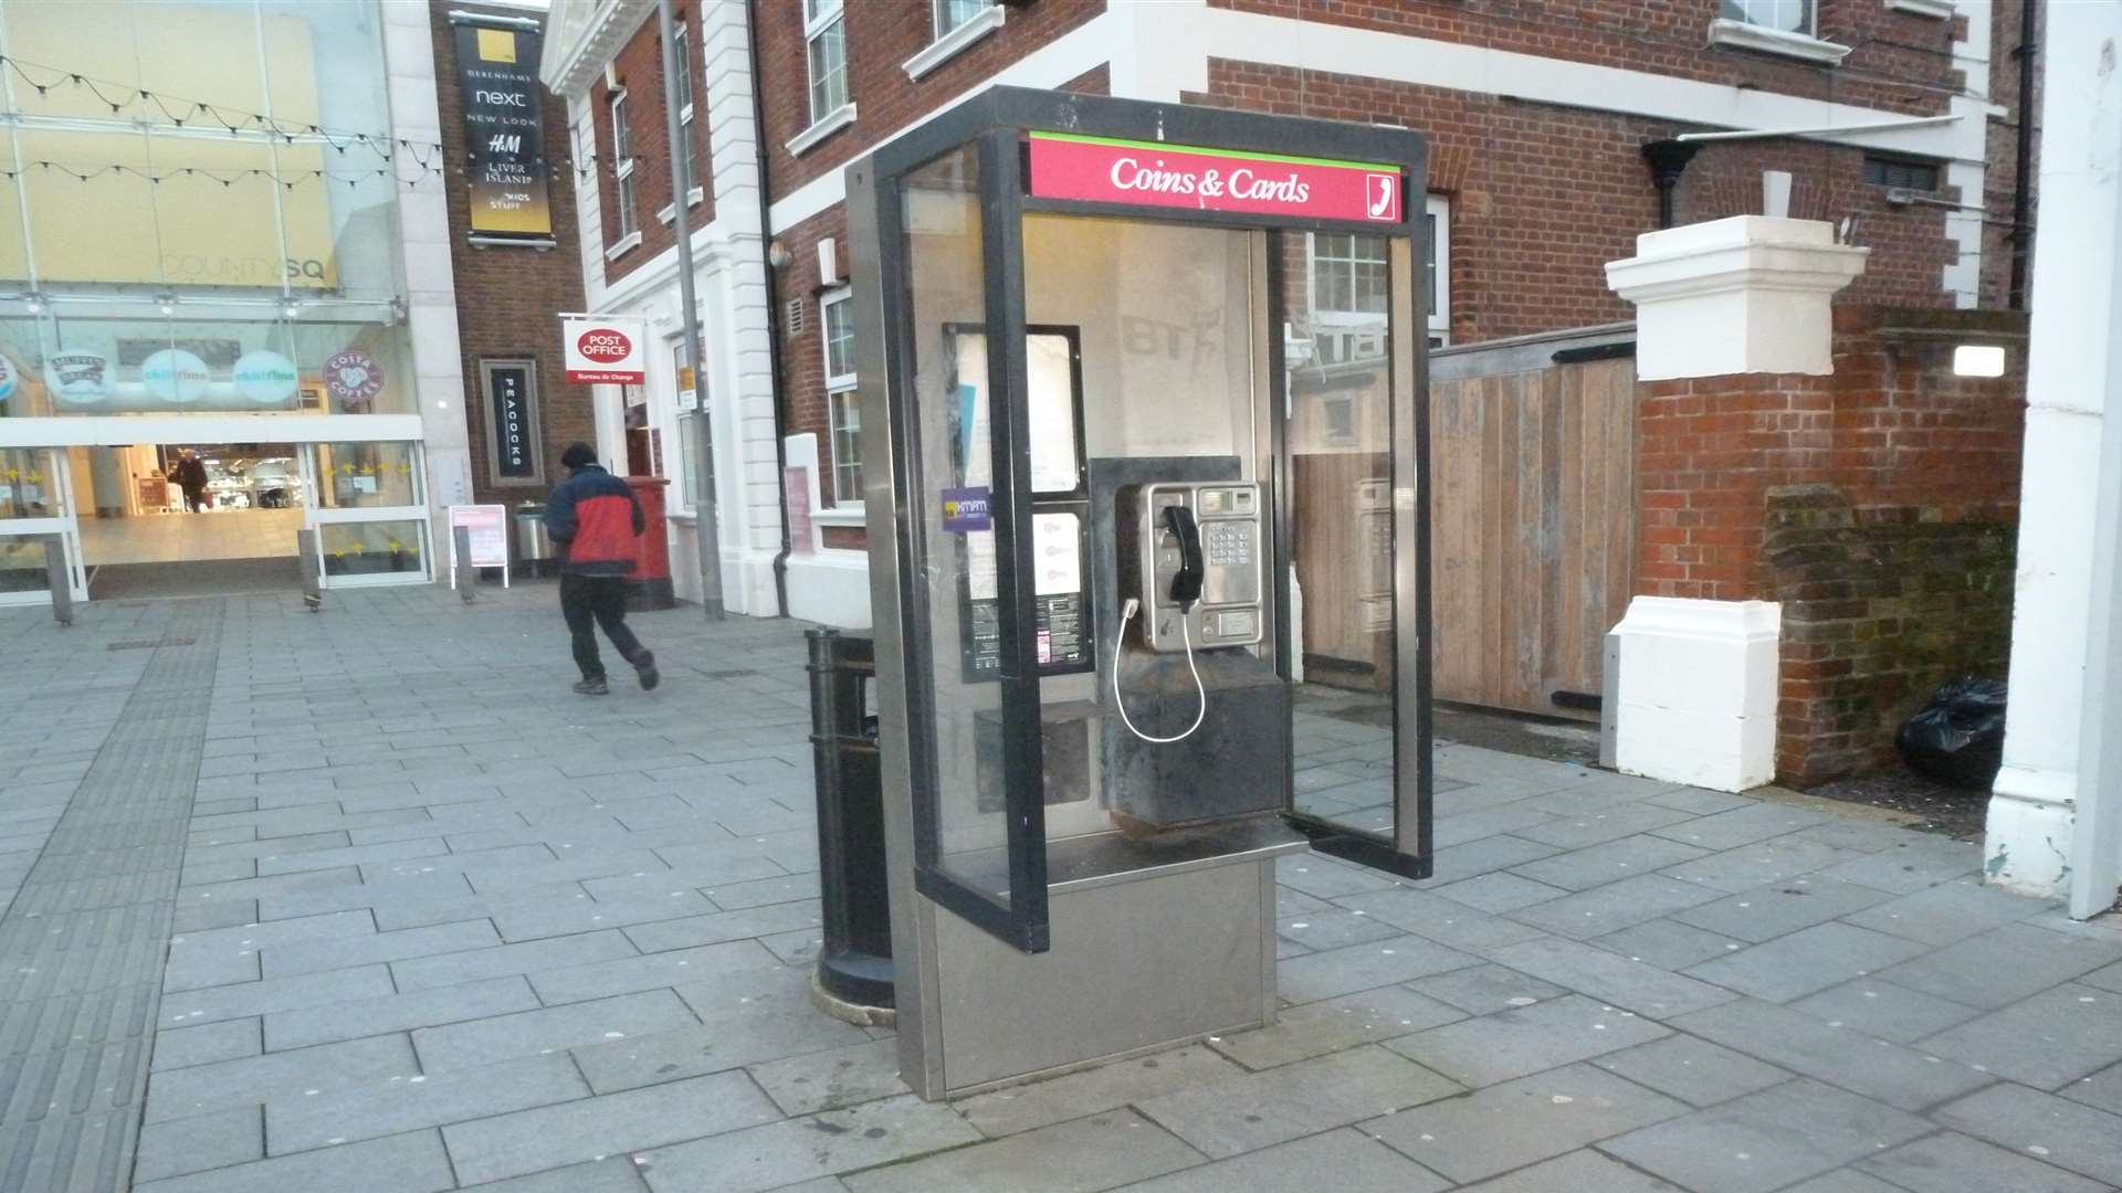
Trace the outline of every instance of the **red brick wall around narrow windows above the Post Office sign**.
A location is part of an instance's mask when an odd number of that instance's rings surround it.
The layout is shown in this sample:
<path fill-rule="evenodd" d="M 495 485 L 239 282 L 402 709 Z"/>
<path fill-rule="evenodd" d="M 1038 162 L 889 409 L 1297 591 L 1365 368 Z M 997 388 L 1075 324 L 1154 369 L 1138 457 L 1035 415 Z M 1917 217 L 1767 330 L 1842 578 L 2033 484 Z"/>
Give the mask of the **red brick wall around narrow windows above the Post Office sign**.
<path fill-rule="evenodd" d="M 794 6 L 794 4 L 792 4 Z M 675 19 L 685 25 L 685 70 L 692 74 L 692 136 L 700 146 L 700 178 L 694 185 L 702 195 L 688 210 L 692 227 L 715 219 L 713 168 L 707 159 L 707 76 L 700 70 L 700 13 L 692 4 L 681 4 Z M 671 206 L 671 176 L 677 166 L 671 161 L 671 127 L 664 117 L 662 36 L 656 19 L 647 19 L 634 30 L 626 47 L 611 57 L 620 89 L 626 91 L 626 134 L 634 151 L 634 227 L 641 244 L 618 259 L 605 261 L 605 284 L 618 282 L 658 253 L 677 244 L 671 225 L 656 219 L 656 212 Z M 611 89 L 598 79 L 590 85 L 590 119 L 596 127 L 596 195 L 605 217 L 605 246 L 620 240 L 620 180 L 618 159 L 611 142 Z"/>

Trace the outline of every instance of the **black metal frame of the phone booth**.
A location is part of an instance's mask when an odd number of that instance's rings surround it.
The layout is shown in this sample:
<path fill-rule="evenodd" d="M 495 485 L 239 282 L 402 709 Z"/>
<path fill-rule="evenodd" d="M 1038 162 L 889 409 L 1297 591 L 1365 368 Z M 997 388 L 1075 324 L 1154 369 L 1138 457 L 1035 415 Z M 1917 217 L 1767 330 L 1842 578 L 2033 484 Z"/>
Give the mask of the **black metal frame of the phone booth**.
<path fill-rule="evenodd" d="M 1029 197 L 1027 178 L 1027 134 L 1072 132 L 1144 142 L 1169 142 L 1184 146 L 1214 146 L 1239 153 L 1303 153 L 1311 157 L 1375 161 L 1401 170 L 1401 221 L 1326 221 L 1305 217 L 1203 212 L 1184 208 L 1150 208 L 1099 202 L 1063 202 Z M 1023 259 L 1023 217 L 1027 212 L 1078 214 L 1078 217 L 1125 217 L 1131 221 L 1159 221 L 1184 225 L 1216 225 L 1241 229 L 1286 229 L 1286 231 L 1358 231 L 1384 236 L 1388 240 L 1413 244 L 1420 236 L 1422 204 L 1409 202 L 1424 195 L 1428 149 L 1420 134 L 1384 125 L 1354 125 L 1341 121 L 1318 121 L 1303 117 L 1271 117 L 1222 108 L 1190 108 L 1178 104 L 1150 104 L 1137 100 L 1112 100 L 1106 96 L 1076 96 L 1065 91 L 1027 91 L 1019 87 L 991 87 L 963 104 L 915 127 L 874 153 L 876 178 L 876 236 L 881 261 L 881 289 L 885 293 L 885 335 L 891 342 L 891 391 L 912 395 L 917 327 L 908 293 L 908 236 L 904 225 L 902 180 L 908 172 L 936 161 L 938 157 L 974 146 L 978 155 L 976 193 L 980 197 L 980 240 L 985 255 L 985 308 L 987 308 L 987 367 L 989 367 L 989 448 L 991 509 L 995 520 L 995 573 L 997 613 L 1002 626 L 1002 745 L 1004 783 L 1008 809 L 1008 904 L 997 902 L 940 866 L 938 824 L 936 824 L 936 737 L 934 737 L 934 669 L 929 596 L 925 592 L 925 558 L 921 518 L 927 495 L 919 469 L 893 469 L 893 518 L 900 550 L 900 607 L 912 628 L 902 637 L 906 654 L 906 707 L 908 707 L 908 773 L 915 783 L 915 887 L 972 921 L 976 928 L 1027 951 L 1038 953 L 1050 947 L 1048 892 L 1046 892 L 1046 802 L 1042 798 L 1044 743 L 1040 732 L 1040 664 L 1036 635 L 1033 586 L 1019 584 L 1019 575 L 1031 575 L 1029 520 L 1040 495 L 1031 492 L 1029 452 L 1016 452 L 1027 425 L 1027 365 L 1025 365 L 1025 259 Z M 1417 257 L 1413 257 L 1417 259 Z M 1314 847 L 1337 853 L 1369 866 L 1377 866 L 1403 877 L 1428 877 L 1430 870 L 1430 592 L 1428 592 L 1428 401 L 1426 401 L 1426 335 L 1422 287 L 1413 282 L 1411 270 L 1394 270 L 1394 297 L 1409 295 L 1407 304 L 1394 301 L 1388 327 L 1394 344 L 1394 374 L 1401 378 L 1403 365 L 1411 367 L 1411 386 L 1403 393 L 1394 384 L 1392 448 L 1394 469 L 1401 463 L 1401 433 L 1405 403 L 1413 416 L 1415 492 L 1417 499 L 1396 503 L 1394 516 L 1394 664 L 1415 667 L 1413 717 L 1403 717 L 1398 688 L 1394 684 L 1394 773 L 1415 775 L 1415 824 L 1401 815 L 1403 788 L 1394 794 L 1394 834 L 1384 838 L 1337 826 L 1322 817 L 1288 809 L 1288 822 L 1314 838 Z M 1280 255 L 1269 255 L 1269 293 L 1280 293 Z M 1407 310 L 1401 310 L 1407 306 Z M 1409 350 L 1409 335 L 1413 348 Z M 1080 346 L 1078 346 L 1080 350 Z M 1411 359 L 1409 359 L 1411 357 Z M 1275 499 L 1275 546 L 1273 558 L 1277 575 L 1288 573 L 1288 492 L 1290 444 L 1282 414 L 1288 408 L 1284 352 L 1280 335 L 1269 338 L 1271 401 L 1271 492 Z M 1080 369 L 1078 382 L 1080 386 Z M 1080 433 L 1078 408 L 1078 433 Z M 889 414 L 891 452 L 898 461 L 919 459 L 919 412 L 910 401 L 893 401 Z M 1082 467 L 1089 467 L 1078 448 Z M 1405 488 L 1396 480 L 1396 488 Z M 1403 552 L 1398 543 L 1411 531 L 1415 550 Z M 1413 601 L 1409 601 L 1413 596 Z M 1095 645 L 1093 645 L 1095 652 Z M 1288 675 L 1290 618 L 1286 601 L 1275 601 L 1275 656 L 1277 667 Z M 1411 756 L 1411 758 L 1409 758 Z M 1284 775 L 1284 792 L 1292 790 L 1292 777 Z M 925 788 L 925 792 L 923 792 Z M 1407 834 L 1413 830 L 1413 853 Z"/>

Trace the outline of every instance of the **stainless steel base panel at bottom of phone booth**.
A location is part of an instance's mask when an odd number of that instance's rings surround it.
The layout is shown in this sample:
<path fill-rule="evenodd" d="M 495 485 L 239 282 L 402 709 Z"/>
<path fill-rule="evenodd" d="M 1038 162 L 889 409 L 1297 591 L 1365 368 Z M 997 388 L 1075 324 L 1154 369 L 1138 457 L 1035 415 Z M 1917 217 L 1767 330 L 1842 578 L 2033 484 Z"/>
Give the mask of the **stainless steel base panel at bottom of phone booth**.
<path fill-rule="evenodd" d="M 1275 1019 L 1275 862 L 1233 858 L 1137 881 L 1059 887 L 1053 951 L 1019 953 L 921 902 L 934 1027 L 902 1040 L 906 1083 L 957 1097 L 1243 1032 Z M 912 1051 L 915 1055 L 904 1055 Z"/>

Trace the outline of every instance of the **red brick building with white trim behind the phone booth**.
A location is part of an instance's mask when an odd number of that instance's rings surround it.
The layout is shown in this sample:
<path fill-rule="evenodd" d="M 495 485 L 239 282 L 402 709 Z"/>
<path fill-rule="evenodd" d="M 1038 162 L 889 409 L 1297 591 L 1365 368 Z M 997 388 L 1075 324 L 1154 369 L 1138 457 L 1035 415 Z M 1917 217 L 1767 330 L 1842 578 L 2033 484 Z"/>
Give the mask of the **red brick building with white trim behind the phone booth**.
<path fill-rule="evenodd" d="M 1872 248 L 1844 295 L 2005 306 L 2018 11 L 1954 0 L 1681 4 L 1343 0 L 681 0 L 709 418 L 730 590 L 864 624 L 842 168 L 991 83 L 1417 127 L 1432 142 L 1432 344 L 1623 321 L 1602 265 L 1657 227 L 1642 146 L 1693 142 L 1676 223 L 1789 214 Z M 675 333 L 660 40 L 649 0 L 558 0 L 594 310 Z M 755 59 L 755 70 L 753 70 Z M 755 100 L 753 85 L 758 83 Z M 705 115 L 700 102 L 705 100 Z M 764 204 L 760 187 L 764 185 Z M 764 208 L 764 223 L 762 212 Z M 766 261 L 772 265 L 764 265 Z M 768 310 L 770 306 L 770 310 Z M 772 355 L 768 352 L 768 338 Z M 775 359 L 777 357 L 777 359 Z M 598 397 L 630 463 L 677 476 L 675 365 Z M 779 397 L 775 378 L 779 376 Z M 789 439 L 775 450 L 775 435 Z M 794 452 L 794 454 L 789 454 Z M 785 461 L 781 456 L 787 456 Z M 794 541 L 781 537 L 792 467 Z M 679 505 L 679 503 L 675 503 Z M 681 543 L 683 546 L 683 543 Z"/>

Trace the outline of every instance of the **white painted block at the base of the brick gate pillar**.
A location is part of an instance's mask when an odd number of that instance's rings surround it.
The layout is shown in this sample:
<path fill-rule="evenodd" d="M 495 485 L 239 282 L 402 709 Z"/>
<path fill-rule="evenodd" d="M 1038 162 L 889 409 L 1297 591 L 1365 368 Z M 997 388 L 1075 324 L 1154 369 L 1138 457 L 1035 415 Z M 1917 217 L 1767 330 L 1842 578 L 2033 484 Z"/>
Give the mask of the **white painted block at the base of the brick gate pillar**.
<path fill-rule="evenodd" d="M 1780 630 L 1774 601 L 1630 601 L 1615 766 L 1719 792 L 1774 779 Z"/>

